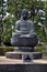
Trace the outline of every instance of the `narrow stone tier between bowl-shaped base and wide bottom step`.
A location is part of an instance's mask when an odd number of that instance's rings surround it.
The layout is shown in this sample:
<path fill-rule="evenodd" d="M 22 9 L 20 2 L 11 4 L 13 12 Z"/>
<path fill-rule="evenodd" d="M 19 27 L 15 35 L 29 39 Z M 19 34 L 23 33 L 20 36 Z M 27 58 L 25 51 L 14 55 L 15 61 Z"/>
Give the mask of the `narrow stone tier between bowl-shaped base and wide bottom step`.
<path fill-rule="evenodd" d="M 14 52 L 34 52 L 34 48 L 32 47 L 15 47 Z"/>

